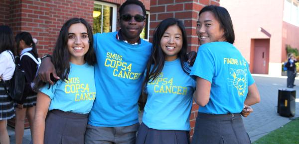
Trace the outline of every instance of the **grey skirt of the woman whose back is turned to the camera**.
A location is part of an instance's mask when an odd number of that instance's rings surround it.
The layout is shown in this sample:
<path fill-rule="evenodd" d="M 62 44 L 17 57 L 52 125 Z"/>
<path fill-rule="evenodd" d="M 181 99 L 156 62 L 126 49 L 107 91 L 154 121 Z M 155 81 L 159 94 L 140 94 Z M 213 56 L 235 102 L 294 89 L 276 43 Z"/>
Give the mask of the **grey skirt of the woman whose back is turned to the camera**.
<path fill-rule="evenodd" d="M 198 113 L 191 144 L 251 144 L 240 114 Z"/>

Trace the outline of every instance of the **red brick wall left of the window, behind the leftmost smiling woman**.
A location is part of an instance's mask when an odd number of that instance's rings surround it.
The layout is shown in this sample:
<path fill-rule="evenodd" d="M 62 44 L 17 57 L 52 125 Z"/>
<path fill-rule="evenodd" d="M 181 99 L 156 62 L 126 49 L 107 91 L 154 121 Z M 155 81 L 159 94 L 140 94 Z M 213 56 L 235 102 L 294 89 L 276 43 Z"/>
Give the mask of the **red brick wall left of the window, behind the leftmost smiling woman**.
<path fill-rule="evenodd" d="M 92 0 L 22 0 L 20 9 L 21 21 L 17 26 L 38 39 L 40 56 L 53 51 L 59 30 L 67 19 L 82 17 L 93 22 Z"/>

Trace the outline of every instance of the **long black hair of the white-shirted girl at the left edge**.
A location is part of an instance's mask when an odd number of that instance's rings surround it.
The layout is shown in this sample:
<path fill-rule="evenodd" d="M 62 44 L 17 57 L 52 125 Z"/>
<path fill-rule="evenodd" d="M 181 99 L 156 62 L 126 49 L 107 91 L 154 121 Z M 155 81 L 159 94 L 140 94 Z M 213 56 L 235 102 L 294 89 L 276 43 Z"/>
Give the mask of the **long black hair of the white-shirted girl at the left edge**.
<path fill-rule="evenodd" d="M 15 55 L 12 30 L 7 25 L 0 25 L 0 53 L 10 50 Z"/>

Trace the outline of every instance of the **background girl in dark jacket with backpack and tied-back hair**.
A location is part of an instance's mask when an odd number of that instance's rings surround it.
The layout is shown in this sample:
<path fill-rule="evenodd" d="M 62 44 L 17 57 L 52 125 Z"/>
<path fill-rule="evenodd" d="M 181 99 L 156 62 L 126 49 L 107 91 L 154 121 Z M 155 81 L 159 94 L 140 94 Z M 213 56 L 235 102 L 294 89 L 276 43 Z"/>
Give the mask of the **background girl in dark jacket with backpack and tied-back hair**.
<path fill-rule="evenodd" d="M 25 88 L 23 96 L 26 97 L 24 101 L 16 103 L 15 109 L 15 144 L 22 144 L 22 138 L 24 134 L 24 120 L 27 115 L 29 121 L 31 136 L 32 125 L 34 120 L 36 95 L 31 88 L 31 83 L 35 78 L 37 71 L 37 64 L 32 58 L 37 61 L 38 55 L 35 47 L 35 43 L 32 40 L 32 36 L 28 32 L 21 32 L 15 36 L 16 46 L 20 51 L 19 65 L 22 70 L 25 71 Z M 30 53 L 33 57 L 26 55 Z"/>

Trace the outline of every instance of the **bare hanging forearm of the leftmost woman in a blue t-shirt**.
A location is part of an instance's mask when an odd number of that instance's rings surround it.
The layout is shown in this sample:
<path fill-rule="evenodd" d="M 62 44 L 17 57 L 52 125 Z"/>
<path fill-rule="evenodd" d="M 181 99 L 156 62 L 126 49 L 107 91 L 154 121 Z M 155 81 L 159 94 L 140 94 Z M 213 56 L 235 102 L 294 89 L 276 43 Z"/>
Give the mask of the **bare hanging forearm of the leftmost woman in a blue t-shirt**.
<path fill-rule="evenodd" d="M 51 99 L 48 95 L 38 92 L 33 122 L 33 144 L 44 144 L 45 119 Z"/>

